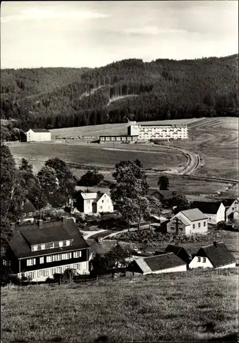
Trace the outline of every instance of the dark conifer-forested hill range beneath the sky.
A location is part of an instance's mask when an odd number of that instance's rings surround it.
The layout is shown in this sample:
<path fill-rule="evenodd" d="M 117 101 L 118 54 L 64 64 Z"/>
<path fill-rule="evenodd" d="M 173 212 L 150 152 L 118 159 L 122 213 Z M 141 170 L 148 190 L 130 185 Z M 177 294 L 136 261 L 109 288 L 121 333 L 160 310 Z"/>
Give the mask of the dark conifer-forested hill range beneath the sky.
<path fill-rule="evenodd" d="M 1 118 L 23 130 L 207 116 L 238 116 L 238 54 L 1 71 Z"/>

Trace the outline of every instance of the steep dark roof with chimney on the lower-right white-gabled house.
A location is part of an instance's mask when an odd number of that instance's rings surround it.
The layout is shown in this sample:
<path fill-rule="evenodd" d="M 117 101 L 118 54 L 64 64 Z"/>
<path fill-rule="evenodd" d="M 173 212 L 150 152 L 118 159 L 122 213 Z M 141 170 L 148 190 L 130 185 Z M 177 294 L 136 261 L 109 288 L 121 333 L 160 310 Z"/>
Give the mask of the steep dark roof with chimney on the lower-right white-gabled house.
<path fill-rule="evenodd" d="M 236 263 L 234 255 L 228 250 L 227 246 L 223 241 L 218 242 L 216 248 L 214 244 L 209 246 L 203 246 L 196 253 L 198 257 L 207 257 L 212 263 L 214 268 L 222 267 L 231 263 Z"/>

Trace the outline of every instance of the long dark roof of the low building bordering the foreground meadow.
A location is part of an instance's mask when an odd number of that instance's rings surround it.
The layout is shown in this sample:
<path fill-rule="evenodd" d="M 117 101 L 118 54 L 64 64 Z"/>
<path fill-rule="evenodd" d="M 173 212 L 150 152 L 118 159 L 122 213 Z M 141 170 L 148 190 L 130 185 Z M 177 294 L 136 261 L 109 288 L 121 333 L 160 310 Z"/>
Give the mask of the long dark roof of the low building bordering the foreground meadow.
<path fill-rule="evenodd" d="M 166 252 L 165 254 L 152 257 L 144 257 L 144 259 L 135 259 L 135 263 L 137 263 L 142 272 L 157 272 L 157 270 L 174 268 L 186 264 L 172 252 Z"/>

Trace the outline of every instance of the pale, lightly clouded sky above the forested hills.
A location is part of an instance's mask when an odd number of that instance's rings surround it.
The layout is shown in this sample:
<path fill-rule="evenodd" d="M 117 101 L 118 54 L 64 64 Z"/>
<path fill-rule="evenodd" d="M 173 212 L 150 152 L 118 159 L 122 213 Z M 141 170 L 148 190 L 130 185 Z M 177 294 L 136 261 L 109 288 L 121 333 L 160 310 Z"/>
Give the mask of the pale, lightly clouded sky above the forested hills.
<path fill-rule="evenodd" d="M 1 68 L 238 53 L 238 1 L 3 1 Z"/>

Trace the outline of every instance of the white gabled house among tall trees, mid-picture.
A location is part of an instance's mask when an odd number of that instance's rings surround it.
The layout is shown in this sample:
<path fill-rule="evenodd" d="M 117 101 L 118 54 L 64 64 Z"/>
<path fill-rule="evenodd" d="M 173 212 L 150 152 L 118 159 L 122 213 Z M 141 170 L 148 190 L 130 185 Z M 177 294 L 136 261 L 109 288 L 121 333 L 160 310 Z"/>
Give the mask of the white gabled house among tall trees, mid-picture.
<path fill-rule="evenodd" d="M 78 210 L 85 214 L 113 212 L 113 203 L 107 193 L 81 193 Z"/>

